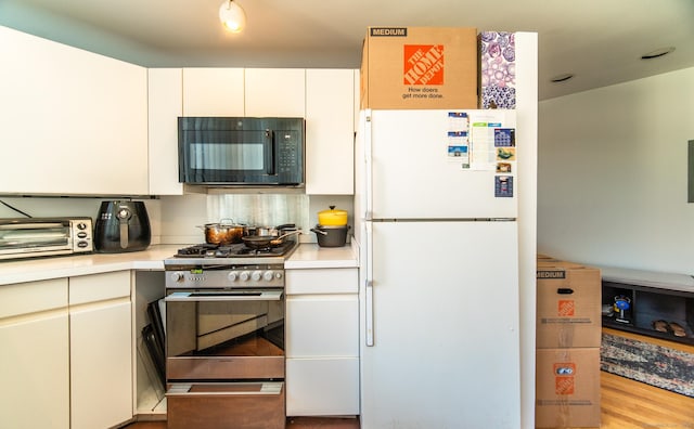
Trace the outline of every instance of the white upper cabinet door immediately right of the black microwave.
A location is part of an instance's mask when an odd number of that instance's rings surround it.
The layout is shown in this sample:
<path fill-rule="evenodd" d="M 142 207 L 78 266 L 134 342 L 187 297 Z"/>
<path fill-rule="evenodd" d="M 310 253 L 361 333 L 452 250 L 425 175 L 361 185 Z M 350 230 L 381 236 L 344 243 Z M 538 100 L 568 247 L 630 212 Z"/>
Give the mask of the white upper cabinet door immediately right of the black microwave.
<path fill-rule="evenodd" d="M 306 193 L 355 192 L 355 70 L 306 70 Z"/>

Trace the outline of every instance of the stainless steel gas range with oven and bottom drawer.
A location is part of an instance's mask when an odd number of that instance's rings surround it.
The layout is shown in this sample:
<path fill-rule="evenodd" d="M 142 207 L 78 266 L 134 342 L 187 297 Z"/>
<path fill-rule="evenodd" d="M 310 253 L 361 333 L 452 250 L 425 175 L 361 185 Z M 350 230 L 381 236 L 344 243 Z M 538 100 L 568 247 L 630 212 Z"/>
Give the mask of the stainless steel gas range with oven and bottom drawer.
<path fill-rule="evenodd" d="M 284 428 L 284 260 L 298 244 L 164 261 L 167 427 Z"/>

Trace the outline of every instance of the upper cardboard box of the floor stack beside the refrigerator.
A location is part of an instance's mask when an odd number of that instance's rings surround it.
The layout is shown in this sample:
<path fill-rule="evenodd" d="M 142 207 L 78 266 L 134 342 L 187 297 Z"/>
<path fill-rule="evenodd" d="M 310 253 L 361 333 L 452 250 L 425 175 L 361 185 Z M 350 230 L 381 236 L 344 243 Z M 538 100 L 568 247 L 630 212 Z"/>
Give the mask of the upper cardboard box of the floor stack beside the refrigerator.
<path fill-rule="evenodd" d="M 538 261 L 536 347 L 600 347 L 601 340 L 600 270 L 566 261 Z"/>

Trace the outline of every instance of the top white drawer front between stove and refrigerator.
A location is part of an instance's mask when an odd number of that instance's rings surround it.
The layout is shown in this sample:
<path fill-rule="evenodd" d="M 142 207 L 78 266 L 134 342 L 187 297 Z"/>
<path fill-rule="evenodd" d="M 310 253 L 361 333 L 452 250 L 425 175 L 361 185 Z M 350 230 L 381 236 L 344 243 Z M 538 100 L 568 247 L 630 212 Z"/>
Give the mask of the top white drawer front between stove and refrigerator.
<path fill-rule="evenodd" d="M 359 275 L 356 268 L 287 270 L 286 294 L 356 294 Z"/>

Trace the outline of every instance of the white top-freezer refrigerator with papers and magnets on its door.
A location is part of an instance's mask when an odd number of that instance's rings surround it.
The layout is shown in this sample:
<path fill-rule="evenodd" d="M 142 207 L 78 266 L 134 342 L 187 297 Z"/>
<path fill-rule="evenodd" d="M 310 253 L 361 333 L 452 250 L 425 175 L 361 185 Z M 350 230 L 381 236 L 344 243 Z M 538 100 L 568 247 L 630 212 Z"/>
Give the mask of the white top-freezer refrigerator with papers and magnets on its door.
<path fill-rule="evenodd" d="M 513 110 L 361 112 L 363 429 L 520 427 L 515 143 Z"/>

